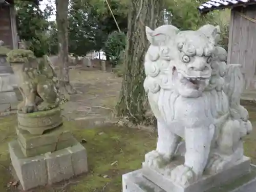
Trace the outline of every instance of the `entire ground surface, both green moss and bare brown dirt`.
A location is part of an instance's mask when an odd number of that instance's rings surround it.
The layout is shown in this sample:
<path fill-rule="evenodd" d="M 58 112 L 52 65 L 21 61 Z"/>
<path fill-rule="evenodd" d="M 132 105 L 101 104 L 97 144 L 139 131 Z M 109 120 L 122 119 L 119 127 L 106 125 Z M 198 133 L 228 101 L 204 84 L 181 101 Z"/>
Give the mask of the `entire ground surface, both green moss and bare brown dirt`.
<path fill-rule="evenodd" d="M 141 167 L 144 154 L 155 148 L 157 135 L 138 129 L 108 125 L 121 89 L 121 78 L 111 72 L 70 70 L 71 83 L 78 94 L 64 104 L 65 129 L 70 130 L 88 151 L 89 173 L 53 186 L 29 192 L 119 192 L 121 176 Z M 243 101 L 253 127 L 256 127 L 256 103 Z M 8 142 L 16 138 L 16 115 L 0 117 L 0 191 L 21 191 L 10 171 Z M 91 129 L 94 128 L 94 129 Z M 245 155 L 256 164 L 256 129 L 244 142 Z"/>

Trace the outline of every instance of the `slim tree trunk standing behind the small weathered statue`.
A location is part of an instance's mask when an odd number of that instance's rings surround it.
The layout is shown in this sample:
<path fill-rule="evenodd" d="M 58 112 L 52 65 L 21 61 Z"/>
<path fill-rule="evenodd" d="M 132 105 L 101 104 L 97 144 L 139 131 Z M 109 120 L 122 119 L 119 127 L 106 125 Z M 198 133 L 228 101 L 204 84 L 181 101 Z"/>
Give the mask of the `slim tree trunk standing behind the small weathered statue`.
<path fill-rule="evenodd" d="M 69 80 L 68 5 L 69 0 L 55 0 L 59 44 L 59 89 L 62 94 L 74 94 Z"/>

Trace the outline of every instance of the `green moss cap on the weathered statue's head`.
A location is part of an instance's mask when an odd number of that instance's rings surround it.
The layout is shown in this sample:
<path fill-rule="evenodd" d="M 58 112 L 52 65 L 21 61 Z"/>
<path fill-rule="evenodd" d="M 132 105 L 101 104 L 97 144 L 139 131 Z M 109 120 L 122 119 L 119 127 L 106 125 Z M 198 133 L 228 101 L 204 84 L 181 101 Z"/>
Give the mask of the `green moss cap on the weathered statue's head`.
<path fill-rule="evenodd" d="M 26 62 L 27 58 L 35 58 L 34 53 L 25 49 L 14 49 L 7 53 L 7 61 L 10 63 Z"/>

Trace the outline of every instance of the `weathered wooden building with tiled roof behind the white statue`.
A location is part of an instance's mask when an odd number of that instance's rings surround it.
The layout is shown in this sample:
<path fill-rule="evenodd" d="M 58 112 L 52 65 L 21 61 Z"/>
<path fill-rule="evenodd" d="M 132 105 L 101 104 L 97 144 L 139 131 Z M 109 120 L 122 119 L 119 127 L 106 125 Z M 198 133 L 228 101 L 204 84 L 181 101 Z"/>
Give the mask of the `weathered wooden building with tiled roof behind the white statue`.
<path fill-rule="evenodd" d="M 256 90 L 256 0 L 210 0 L 198 9 L 225 8 L 231 9 L 227 62 L 241 64 L 246 90 Z"/>

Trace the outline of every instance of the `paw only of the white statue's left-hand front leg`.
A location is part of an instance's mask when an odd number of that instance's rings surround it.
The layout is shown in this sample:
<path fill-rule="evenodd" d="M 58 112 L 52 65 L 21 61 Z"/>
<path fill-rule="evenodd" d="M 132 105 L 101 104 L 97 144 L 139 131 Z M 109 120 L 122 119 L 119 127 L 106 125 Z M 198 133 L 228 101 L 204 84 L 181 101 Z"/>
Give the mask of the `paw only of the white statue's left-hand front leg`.
<path fill-rule="evenodd" d="M 161 154 L 154 150 L 145 155 L 145 163 L 147 164 L 147 166 L 150 166 L 152 168 L 161 168 L 166 165 L 167 160 L 164 159 Z"/>

